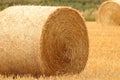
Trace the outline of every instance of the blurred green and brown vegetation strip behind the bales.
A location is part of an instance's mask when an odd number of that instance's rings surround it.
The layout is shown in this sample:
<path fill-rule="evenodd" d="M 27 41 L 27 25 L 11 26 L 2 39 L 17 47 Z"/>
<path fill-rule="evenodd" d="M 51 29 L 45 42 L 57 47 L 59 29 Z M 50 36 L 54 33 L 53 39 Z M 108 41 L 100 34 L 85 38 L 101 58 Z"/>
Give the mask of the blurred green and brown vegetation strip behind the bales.
<path fill-rule="evenodd" d="M 71 6 L 87 21 L 94 21 L 99 5 L 105 0 L 0 0 L 0 10 L 13 5 Z"/>

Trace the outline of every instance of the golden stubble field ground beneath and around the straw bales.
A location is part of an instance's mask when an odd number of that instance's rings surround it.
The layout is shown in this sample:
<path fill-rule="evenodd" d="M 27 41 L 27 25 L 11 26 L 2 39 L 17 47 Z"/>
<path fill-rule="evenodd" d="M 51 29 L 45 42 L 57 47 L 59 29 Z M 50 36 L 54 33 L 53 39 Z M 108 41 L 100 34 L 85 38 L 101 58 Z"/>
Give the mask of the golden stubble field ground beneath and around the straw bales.
<path fill-rule="evenodd" d="M 40 77 L 38 80 L 120 80 L 120 26 L 100 26 L 86 22 L 90 53 L 85 70 L 80 74 Z M 12 77 L 0 80 L 12 80 Z M 37 80 L 18 77 L 16 80 Z"/>

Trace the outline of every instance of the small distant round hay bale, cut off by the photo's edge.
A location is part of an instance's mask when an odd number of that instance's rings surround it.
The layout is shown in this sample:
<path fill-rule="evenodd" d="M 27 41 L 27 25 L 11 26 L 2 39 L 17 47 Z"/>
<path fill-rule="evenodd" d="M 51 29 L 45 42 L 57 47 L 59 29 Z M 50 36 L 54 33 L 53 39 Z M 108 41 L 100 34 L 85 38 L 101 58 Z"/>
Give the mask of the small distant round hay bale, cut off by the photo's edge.
<path fill-rule="evenodd" d="M 102 25 L 120 25 L 120 0 L 104 2 L 98 10 L 96 21 Z"/>

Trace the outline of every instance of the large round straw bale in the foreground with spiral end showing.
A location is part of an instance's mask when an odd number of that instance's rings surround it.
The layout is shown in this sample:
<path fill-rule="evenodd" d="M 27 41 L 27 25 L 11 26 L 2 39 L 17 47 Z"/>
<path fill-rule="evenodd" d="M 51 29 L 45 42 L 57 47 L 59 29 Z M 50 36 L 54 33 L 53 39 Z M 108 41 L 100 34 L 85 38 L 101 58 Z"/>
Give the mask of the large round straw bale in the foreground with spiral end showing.
<path fill-rule="evenodd" d="M 0 73 L 56 75 L 81 72 L 88 34 L 70 7 L 14 6 L 0 12 Z"/>

